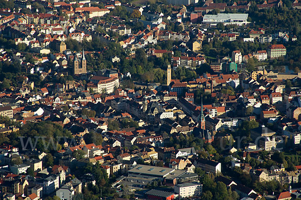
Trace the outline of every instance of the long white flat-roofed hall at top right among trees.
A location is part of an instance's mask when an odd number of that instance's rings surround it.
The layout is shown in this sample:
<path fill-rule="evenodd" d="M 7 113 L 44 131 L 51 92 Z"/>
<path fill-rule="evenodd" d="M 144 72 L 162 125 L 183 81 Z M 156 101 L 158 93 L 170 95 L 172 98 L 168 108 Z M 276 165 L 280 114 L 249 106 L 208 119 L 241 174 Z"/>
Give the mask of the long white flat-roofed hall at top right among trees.
<path fill-rule="evenodd" d="M 218 14 L 205 14 L 203 17 L 203 23 L 217 24 L 237 24 L 245 25 L 248 23 L 248 14 L 238 13 L 218 13 Z"/>

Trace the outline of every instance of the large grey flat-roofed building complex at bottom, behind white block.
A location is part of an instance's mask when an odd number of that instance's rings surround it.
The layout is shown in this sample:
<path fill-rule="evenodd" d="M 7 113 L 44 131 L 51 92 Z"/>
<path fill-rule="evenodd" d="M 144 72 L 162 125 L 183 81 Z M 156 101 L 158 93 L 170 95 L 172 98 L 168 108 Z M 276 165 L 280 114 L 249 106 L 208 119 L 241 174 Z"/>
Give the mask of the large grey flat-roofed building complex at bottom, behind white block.
<path fill-rule="evenodd" d="M 127 181 L 138 182 L 140 184 L 152 183 L 155 180 L 165 181 L 167 183 L 181 183 L 195 181 L 198 174 L 167 167 L 149 166 L 138 164 L 128 170 Z"/>

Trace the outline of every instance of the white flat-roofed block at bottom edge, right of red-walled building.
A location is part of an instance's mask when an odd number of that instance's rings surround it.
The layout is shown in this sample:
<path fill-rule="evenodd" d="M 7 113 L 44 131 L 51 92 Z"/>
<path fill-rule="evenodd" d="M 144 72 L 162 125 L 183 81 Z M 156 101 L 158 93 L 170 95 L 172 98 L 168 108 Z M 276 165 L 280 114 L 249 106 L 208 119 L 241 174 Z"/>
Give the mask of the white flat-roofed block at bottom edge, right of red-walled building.
<path fill-rule="evenodd" d="M 187 182 L 175 185 L 175 193 L 179 194 L 180 198 L 189 196 L 200 196 L 203 191 L 203 185 L 199 182 Z"/>

